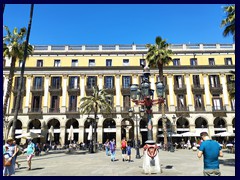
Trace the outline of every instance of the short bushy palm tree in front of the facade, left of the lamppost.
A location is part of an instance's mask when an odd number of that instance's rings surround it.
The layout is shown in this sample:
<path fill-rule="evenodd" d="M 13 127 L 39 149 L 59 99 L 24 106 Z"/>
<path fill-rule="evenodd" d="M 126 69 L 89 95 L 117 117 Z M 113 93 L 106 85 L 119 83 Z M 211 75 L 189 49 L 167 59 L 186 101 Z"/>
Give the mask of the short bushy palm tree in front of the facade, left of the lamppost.
<path fill-rule="evenodd" d="M 101 113 L 100 110 L 104 109 L 107 112 L 110 112 L 112 107 L 107 101 L 107 97 L 111 96 L 107 94 L 104 89 L 99 90 L 98 87 L 93 87 L 93 94 L 92 96 L 85 96 L 80 100 L 80 113 L 81 114 L 89 114 L 90 112 L 94 112 L 94 135 L 93 135 L 93 143 L 96 151 L 96 142 L 97 142 L 97 126 L 96 126 L 96 119 L 97 114 Z M 93 147 L 93 146 L 92 146 Z M 91 150 L 93 152 L 93 149 Z"/>

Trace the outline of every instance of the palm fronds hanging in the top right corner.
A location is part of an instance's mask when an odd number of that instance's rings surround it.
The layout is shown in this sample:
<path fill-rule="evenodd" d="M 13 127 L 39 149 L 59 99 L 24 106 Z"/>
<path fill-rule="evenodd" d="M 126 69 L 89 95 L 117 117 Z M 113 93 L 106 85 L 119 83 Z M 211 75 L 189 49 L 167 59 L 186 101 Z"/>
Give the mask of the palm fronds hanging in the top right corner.
<path fill-rule="evenodd" d="M 226 18 L 222 20 L 221 27 L 225 27 L 223 36 L 226 37 L 229 34 L 233 35 L 235 41 L 235 5 L 229 5 L 224 7 L 224 11 L 227 14 Z"/>

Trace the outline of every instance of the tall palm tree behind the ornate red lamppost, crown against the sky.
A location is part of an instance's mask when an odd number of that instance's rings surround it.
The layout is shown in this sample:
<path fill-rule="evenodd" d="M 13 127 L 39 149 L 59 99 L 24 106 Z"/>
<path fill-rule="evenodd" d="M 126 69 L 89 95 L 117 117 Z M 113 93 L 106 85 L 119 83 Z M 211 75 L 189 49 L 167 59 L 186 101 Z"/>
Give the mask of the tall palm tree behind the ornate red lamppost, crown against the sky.
<path fill-rule="evenodd" d="M 172 55 L 172 51 L 168 49 L 169 44 L 166 43 L 166 40 L 163 40 L 160 36 L 157 36 L 155 39 L 155 44 L 147 44 L 148 52 L 146 55 L 146 60 L 149 63 L 149 67 L 158 68 L 160 82 L 163 83 L 163 66 L 169 64 L 172 61 L 170 55 Z M 162 106 L 162 117 L 165 116 L 164 103 Z M 164 135 L 164 145 L 167 145 L 167 127 L 166 127 L 166 119 L 163 120 L 163 135 Z"/>

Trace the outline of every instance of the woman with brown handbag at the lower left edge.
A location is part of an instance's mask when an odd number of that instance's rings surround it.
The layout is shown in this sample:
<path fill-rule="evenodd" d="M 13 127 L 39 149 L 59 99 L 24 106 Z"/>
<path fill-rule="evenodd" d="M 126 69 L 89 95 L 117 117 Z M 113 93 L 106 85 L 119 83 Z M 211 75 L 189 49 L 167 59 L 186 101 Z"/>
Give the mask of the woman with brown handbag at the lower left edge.
<path fill-rule="evenodd" d="M 11 176 L 15 174 L 15 156 L 17 155 L 17 147 L 13 144 L 13 139 L 8 138 L 6 141 L 5 153 L 3 154 L 3 176 Z M 10 164 L 5 162 L 11 162 Z"/>

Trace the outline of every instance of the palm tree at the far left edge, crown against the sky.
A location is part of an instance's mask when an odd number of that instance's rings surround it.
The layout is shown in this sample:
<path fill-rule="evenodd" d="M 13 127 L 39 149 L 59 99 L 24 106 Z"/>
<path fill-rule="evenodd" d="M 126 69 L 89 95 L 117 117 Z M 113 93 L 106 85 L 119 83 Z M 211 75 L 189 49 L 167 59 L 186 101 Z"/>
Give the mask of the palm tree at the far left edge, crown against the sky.
<path fill-rule="evenodd" d="M 16 60 L 23 58 L 23 38 L 26 35 L 26 28 L 21 28 L 20 31 L 14 28 L 13 33 L 10 32 L 7 26 L 4 26 L 4 28 L 7 31 L 7 35 L 3 37 L 3 57 L 11 58 L 11 65 L 3 103 L 3 117 L 6 115 L 7 103 L 11 94 Z"/>

